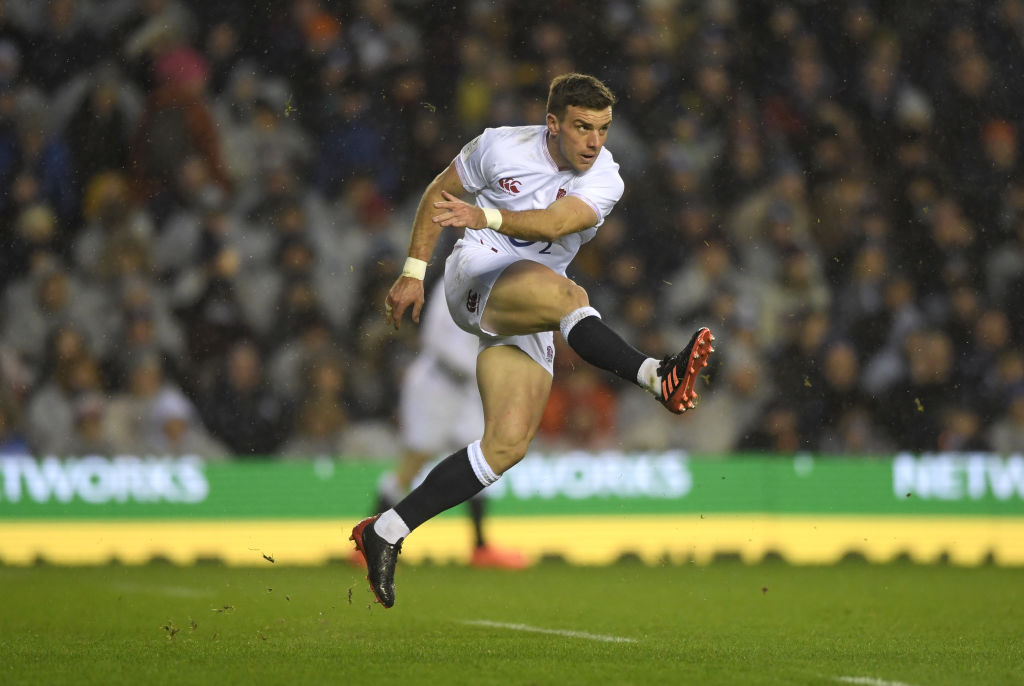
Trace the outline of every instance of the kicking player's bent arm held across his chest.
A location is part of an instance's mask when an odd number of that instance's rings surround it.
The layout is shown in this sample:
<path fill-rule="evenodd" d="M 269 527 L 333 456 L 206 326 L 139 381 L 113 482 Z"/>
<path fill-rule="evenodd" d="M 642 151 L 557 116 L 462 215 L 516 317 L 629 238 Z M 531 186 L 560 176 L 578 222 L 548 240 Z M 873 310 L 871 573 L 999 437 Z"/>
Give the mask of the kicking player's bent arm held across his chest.
<path fill-rule="evenodd" d="M 483 208 L 441 191 L 442 202 L 434 203 L 438 210 L 433 221 L 441 226 L 455 228 L 487 228 Z M 597 212 L 586 201 L 575 196 L 559 198 L 543 210 L 493 210 L 499 212 L 501 225 L 489 224 L 505 235 L 523 241 L 557 241 L 597 224 Z M 497 222 L 496 222 L 497 223 Z"/>

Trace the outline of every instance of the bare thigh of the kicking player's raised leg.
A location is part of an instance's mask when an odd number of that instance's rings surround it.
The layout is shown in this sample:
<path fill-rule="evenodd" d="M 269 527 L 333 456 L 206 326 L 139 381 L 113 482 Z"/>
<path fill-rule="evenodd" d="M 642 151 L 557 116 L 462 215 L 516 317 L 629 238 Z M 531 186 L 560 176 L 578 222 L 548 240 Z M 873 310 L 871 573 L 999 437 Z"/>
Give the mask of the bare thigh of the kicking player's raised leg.
<path fill-rule="evenodd" d="M 555 331 L 566 314 L 590 304 L 587 291 L 529 260 L 510 265 L 495 282 L 482 325 L 500 336 Z"/>

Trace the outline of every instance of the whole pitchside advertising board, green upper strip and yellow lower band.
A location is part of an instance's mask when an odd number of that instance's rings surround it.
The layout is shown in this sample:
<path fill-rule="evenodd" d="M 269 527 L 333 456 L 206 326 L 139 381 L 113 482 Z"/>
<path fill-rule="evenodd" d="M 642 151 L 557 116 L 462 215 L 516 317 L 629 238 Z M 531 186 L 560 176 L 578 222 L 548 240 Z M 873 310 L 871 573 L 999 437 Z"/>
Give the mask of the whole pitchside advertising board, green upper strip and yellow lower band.
<path fill-rule="evenodd" d="M 0 457 L 0 562 L 348 559 L 388 465 L 354 459 Z M 1024 457 L 531 454 L 486 489 L 488 529 L 538 559 L 829 563 L 850 553 L 1024 564 Z M 403 559 L 464 561 L 457 508 Z"/>

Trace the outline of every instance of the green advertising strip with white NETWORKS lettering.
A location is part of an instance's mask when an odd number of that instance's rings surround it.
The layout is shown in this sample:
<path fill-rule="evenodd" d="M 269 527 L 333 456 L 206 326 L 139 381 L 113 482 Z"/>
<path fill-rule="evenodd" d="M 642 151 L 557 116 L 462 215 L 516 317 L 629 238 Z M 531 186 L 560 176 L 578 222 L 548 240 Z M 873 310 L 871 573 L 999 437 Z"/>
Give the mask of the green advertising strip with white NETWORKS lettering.
<path fill-rule="evenodd" d="M 0 518 L 347 517 L 372 506 L 386 468 L 342 459 L 0 457 Z M 1024 457 L 532 454 L 487 495 L 497 515 L 1024 515 Z"/>

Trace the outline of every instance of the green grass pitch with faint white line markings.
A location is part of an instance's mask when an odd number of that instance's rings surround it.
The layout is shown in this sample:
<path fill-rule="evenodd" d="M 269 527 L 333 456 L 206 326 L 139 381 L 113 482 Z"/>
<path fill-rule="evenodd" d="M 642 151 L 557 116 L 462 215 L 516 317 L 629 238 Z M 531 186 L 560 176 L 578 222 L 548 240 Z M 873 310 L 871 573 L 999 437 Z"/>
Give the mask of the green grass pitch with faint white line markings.
<path fill-rule="evenodd" d="M 0 567 L 0 683 L 1024 684 L 1024 569 Z"/>

